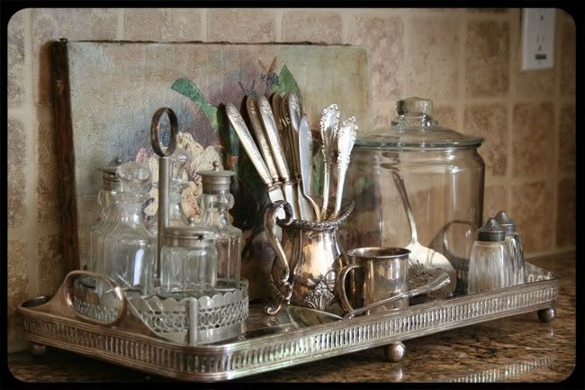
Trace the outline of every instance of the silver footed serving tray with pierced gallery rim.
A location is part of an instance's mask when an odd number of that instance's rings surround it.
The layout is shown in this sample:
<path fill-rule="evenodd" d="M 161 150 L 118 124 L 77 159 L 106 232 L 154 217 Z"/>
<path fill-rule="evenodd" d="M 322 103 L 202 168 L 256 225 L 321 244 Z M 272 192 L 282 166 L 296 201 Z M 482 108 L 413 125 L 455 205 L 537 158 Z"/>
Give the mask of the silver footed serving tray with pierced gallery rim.
<path fill-rule="evenodd" d="M 65 303 L 23 303 L 24 331 L 35 343 L 182 380 L 212 382 L 254 375 L 554 306 L 559 277 L 527 263 L 527 283 L 410 305 L 388 313 L 297 328 L 251 304 L 247 332 L 235 340 L 189 346 L 166 340 L 130 309 L 112 326 L 85 322 Z"/>

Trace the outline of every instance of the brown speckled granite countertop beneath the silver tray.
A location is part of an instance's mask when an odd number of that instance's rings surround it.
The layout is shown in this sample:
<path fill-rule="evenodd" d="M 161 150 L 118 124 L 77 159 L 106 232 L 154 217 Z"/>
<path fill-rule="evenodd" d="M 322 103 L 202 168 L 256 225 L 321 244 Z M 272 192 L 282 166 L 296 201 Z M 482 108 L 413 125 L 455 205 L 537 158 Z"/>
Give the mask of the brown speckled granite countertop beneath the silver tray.
<path fill-rule="evenodd" d="M 575 253 L 529 261 L 562 277 L 557 315 L 540 322 L 526 313 L 406 340 L 398 363 L 383 348 L 289 367 L 235 382 L 558 382 L 576 361 Z M 8 368 L 27 382 L 173 382 L 74 353 L 48 349 L 8 355 Z"/>

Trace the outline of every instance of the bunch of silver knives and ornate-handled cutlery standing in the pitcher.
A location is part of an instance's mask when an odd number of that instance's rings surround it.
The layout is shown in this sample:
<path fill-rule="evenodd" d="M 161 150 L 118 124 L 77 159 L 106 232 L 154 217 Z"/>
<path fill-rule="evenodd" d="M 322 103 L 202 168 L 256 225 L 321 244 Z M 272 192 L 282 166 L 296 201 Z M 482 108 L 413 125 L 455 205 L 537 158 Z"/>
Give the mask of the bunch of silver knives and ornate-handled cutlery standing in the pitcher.
<path fill-rule="evenodd" d="M 337 104 L 329 104 L 323 110 L 320 120 L 323 188 L 322 202 L 318 204 L 312 177 L 313 134 L 297 95 L 274 94 L 270 101 L 264 95 L 258 98 L 248 95 L 246 110 L 255 137 L 238 109 L 226 104 L 229 123 L 265 183 L 270 200 L 291 204 L 296 220 L 321 222 L 337 218 L 351 150 L 356 142 L 356 117 L 347 118 L 339 125 Z M 338 184 L 332 197 L 334 172 Z"/>

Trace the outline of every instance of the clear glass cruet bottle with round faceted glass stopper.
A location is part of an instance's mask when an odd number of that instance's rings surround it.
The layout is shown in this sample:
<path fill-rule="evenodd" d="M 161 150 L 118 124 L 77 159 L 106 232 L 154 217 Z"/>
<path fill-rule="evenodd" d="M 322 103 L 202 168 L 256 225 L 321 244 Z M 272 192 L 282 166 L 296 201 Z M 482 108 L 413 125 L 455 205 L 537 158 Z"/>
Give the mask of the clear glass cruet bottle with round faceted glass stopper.
<path fill-rule="evenodd" d="M 116 194 L 118 221 L 103 239 L 102 273 L 124 290 L 141 295 L 152 292 L 156 239 L 144 223 L 142 206 L 148 197 L 148 167 L 134 161 L 118 170 L 121 192 Z"/>

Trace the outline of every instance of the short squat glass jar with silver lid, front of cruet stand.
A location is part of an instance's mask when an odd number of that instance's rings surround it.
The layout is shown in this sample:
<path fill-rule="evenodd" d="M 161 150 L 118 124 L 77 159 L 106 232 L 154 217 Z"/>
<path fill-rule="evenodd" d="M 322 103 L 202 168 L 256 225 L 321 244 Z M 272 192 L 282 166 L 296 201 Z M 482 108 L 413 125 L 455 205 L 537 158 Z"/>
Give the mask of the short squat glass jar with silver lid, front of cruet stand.
<path fill-rule="evenodd" d="M 212 293 L 218 285 L 217 231 L 168 227 L 161 250 L 160 289 L 163 297 L 182 299 Z"/>

